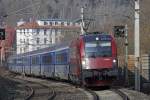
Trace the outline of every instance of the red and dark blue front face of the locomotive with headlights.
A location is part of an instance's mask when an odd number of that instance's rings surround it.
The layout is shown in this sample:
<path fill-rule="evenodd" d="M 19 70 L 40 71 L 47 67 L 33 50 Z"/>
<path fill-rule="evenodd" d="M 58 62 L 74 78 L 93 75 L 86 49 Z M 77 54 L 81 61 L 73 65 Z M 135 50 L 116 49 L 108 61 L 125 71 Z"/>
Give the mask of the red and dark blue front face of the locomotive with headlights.
<path fill-rule="evenodd" d="M 83 38 L 82 82 L 87 86 L 109 86 L 117 77 L 116 45 L 110 35 L 91 34 Z"/>

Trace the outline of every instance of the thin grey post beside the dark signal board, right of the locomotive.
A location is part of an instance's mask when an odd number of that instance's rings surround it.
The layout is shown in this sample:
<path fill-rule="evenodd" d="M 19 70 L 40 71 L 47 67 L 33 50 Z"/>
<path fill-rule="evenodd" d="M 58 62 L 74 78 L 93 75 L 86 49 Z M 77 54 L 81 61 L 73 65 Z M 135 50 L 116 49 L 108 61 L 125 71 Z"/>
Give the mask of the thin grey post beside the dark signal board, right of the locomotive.
<path fill-rule="evenodd" d="M 128 85 L 128 25 L 125 25 L 125 80 Z"/>

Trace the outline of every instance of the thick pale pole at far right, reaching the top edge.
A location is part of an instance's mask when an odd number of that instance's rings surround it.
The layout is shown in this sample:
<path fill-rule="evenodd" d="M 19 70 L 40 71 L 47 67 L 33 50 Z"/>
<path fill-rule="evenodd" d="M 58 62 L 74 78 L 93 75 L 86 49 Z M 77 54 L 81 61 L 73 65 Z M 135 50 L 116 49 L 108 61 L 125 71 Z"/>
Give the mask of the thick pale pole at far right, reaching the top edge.
<path fill-rule="evenodd" d="M 134 55 L 135 90 L 140 91 L 140 0 L 135 0 Z"/>

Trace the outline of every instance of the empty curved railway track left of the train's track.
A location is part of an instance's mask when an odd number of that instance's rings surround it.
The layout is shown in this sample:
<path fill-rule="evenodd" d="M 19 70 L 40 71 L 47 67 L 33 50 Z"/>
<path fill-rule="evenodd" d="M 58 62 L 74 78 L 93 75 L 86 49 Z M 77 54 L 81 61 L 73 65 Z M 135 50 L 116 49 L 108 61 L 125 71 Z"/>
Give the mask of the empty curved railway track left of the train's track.
<path fill-rule="evenodd" d="M 21 84 L 20 92 L 24 91 L 23 95 L 14 95 L 13 100 L 53 100 L 56 96 L 55 91 L 52 87 L 49 87 L 40 82 L 33 82 L 30 80 L 23 80 L 21 78 L 17 78 L 17 75 L 12 74 L 7 78 L 11 78 Z"/>

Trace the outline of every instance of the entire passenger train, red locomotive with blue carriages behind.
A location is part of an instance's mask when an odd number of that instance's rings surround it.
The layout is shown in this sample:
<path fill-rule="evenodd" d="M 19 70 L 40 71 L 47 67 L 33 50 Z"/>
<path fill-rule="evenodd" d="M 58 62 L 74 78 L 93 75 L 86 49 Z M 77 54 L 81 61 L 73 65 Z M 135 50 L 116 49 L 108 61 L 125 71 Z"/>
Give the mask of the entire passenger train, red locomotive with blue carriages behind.
<path fill-rule="evenodd" d="M 70 43 L 10 56 L 8 65 L 9 70 L 26 75 L 109 86 L 118 75 L 117 47 L 111 35 L 91 32 Z"/>

